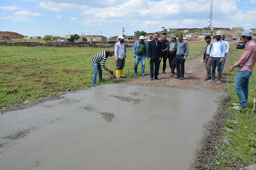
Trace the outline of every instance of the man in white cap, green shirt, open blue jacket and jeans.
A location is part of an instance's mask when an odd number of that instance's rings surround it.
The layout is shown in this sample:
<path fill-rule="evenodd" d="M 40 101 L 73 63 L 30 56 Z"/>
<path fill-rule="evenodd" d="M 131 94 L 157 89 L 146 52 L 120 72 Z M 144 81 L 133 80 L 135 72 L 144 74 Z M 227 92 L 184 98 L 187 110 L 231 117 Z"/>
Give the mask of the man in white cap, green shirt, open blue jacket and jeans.
<path fill-rule="evenodd" d="M 140 36 L 140 40 L 134 43 L 132 48 L 133 57 L 135 59 L 134 63 L 134 71 L 135 74 L 138 75 L 138 64 L 141 63 L 141 75 L 145 76 L 145 57 L 148 58 L 148 43 L 144 42 L 144 36 Z"/>

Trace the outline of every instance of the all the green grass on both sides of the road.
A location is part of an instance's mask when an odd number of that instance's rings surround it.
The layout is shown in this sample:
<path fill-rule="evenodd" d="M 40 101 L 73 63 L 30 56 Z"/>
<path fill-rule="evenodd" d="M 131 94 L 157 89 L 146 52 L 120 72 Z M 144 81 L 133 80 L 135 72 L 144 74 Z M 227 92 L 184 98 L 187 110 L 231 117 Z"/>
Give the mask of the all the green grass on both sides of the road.
<path fill-rule="evenodd" d="M 188 59 L 202 55 L 205 42 L 189 42 L 190 54 Z M 83 89 L 92 86 L 92 57 L 100 51 L 108 50 L 103 48 L 52 48 L 52 47 L 5 47 L 0 46 L 0 106 L 6 107 L 26 100 L 35 100 L 51 96 L 59 92 L 66 92 L 67 88 Z M 202 51 L 202 52 L 200 52 Z M 230 43 L 230 60 L 226 64 L 232 66 L 238 61 L 242 49 L 236 49 L 234 42 Z M 106 66 L 115 70 L 115 59 L 110 57 Z M 161 67 L 161 66 L 160 66 Z M 126 79 L 138 78 L 134 76 L 134 58 L 132 48 L 128 48 L 126 58 Z M 138 70 L 141 69 L 139 64 Z M 254 67 L 254 70 L 256 67 Z M 149 73 L 149 64 L 146 61 L 146 73 Z M 228 73 L 228 92 L 232 96 L 232 102 L 238 103 L 238 97 L 234 91 L 233 84 L 238 72 L 235 68 Z M 254 71 L 255 72 L 255 71 Z M 103 78 L 109 73 L 103 71 Z M 249 96 L 256 98 L 255 73 L 250 77 Z M 98 79 L 97 79 L 98 80 Z M 115 83 L 118 80 L 104 81 L 104 84 Z M 12 89 L 17 89 L 17 92 Z M 10 91 L 10 92 L 9 92 Z M 256 164 L 256 115 L 252 111 L 253 99 L 248 99 L 248 109 L 245 111 L 230 110 L 232 119 L 238 121 L 226 122 L 226 126 L 235 133 L 223 132 L 223 137 L 228 137 L 230 145 L 221 143 L 216 146 L 220 155 L 215 162 L 221 170 L 229 166 L 230 161 L 240 160 L 240 164 Z M 230 106 L 232 104 L 230 102 Z M 220 139 L 222 141 L 222 139 Z"/>

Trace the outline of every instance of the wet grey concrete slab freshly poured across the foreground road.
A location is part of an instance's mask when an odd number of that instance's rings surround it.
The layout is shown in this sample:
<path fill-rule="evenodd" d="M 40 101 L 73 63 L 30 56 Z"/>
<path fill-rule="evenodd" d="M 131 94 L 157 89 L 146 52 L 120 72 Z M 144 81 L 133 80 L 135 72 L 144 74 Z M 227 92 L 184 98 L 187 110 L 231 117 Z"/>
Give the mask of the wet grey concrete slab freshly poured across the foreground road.
<path fill-rule="evenodd" d="M 0 115 L 0 169 L 188 170 L 220 92 L 108 84 Z"/>

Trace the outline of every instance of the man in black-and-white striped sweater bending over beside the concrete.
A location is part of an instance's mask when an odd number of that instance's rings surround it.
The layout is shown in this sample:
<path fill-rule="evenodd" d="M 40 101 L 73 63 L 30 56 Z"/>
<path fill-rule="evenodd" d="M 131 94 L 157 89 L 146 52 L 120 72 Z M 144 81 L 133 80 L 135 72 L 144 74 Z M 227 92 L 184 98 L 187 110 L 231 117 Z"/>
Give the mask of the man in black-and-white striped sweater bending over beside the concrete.
<path fill-rule="evenodd" d="M 105 66 L 105 63 L 108 59 L 108 56 L 113 56 L 115 54 L 113 49 L 110 49 L 109 51 L 102 51 L 100 53 L 98 53 L 96 56 L 94 56 L 92 58 L 92 68 L 93 68 L 93 76 L 92 76 L 92 86 L 97 86 L 96 84 L 96 80 L 97 80 L 97 74 L 99 73 L 99 82 L 102 82 L 102 68 L 101 66 L 104 68 L 104 70 L 107 70 L 108 72 L 110 72 L 111 70 L 108 69 Z M 101 65 L 100 62 L 102 61 Z"/>

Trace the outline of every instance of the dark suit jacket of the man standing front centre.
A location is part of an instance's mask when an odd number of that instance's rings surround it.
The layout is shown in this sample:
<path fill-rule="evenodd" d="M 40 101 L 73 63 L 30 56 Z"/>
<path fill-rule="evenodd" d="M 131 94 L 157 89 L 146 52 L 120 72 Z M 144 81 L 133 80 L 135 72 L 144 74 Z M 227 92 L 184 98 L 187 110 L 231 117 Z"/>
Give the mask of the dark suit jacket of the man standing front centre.
<path fill-rule="evenodd" d="M 148 58 L 154 60 L 155 58 L 162 57 L 162 42 L 158 40 L 157 46 L 156 41 L 153 39 L 148 43 Z"/>

